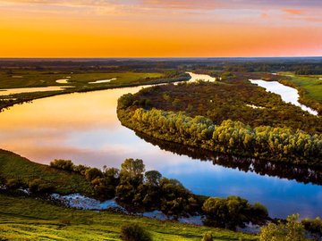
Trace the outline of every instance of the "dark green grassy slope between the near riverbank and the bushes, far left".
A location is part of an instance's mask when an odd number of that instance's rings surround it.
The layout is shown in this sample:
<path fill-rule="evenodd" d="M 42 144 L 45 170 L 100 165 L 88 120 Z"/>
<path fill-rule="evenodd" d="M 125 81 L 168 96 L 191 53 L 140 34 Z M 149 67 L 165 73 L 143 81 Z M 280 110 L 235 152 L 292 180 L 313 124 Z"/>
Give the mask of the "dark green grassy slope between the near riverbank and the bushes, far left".
<path fill-rule="evenodd" d="M 0 178 L 19 179 L 26 186 L 33 179 L 43 179 L 53 185 L 55 192 L 60 194 L 94 193 L 93 187 L 80 174 L 30 162 L 18 154 L 4 150 L 0 150 Z"/>

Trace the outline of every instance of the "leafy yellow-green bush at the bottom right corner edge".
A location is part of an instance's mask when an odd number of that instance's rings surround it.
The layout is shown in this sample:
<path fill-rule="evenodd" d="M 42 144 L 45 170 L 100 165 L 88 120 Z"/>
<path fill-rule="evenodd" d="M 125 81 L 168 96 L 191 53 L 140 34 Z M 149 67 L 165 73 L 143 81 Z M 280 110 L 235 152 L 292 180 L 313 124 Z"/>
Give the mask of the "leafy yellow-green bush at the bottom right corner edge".
<path fill-rule="evenodd" d="M 305 239 L 304 227 L 297 221 L 299 214 L 288 216 L 286 224 L 269 223 L 260 229 L 260 241 L 302 241 Z"/>

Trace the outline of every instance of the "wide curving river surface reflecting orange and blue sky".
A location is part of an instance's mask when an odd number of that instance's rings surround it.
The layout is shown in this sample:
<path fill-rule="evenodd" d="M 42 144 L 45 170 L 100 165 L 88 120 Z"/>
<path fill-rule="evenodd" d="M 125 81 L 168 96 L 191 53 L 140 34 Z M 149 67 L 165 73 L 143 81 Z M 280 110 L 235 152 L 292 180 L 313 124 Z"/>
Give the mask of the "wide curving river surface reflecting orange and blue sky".
<path fill-rule="evenodd" d="M 265 204 L 274 217 L 296 212 L 322 216 L 321 187 L 172 154 L 122 127 L 116 117 L 117 98 L 139 89 L 54 96 L 15 105 L 0 113 L 0 146 L 44 163 L 64 158 L 96 167 L 119 167 L 125 158 L 140 158 L 147 170 L 179 179 L 199 195 L 241 195 Z"/>

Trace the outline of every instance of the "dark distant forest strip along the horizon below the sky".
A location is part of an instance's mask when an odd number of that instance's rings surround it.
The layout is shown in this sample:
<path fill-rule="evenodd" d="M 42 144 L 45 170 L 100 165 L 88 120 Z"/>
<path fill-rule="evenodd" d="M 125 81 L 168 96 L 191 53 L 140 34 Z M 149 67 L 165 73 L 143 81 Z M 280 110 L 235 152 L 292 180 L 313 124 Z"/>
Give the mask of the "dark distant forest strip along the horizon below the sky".
<path fill-rule="evenodd" d="M 79 69 L 160 71 L 165 69 L 322 74 L 322 57 L 308 58 L 151 58 L 151 59 L 0 59 L 0 70 Z"/>

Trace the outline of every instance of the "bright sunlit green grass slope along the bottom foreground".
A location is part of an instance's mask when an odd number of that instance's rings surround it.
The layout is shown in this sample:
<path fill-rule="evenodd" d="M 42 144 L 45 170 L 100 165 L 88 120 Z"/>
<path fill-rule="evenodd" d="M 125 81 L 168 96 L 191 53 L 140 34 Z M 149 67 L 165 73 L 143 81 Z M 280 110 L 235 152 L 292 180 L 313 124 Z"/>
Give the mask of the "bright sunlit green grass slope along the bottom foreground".
<path fill-rule="evenodd" d="M 123 224 L 134 222 L 148 230 L 153 240 L 200 240 L 207 231 L 214 240 L 258 240 L 225 229 L 74 210 L 30 197 L 0 194 L 0 240 L 120 240 Z"/>

